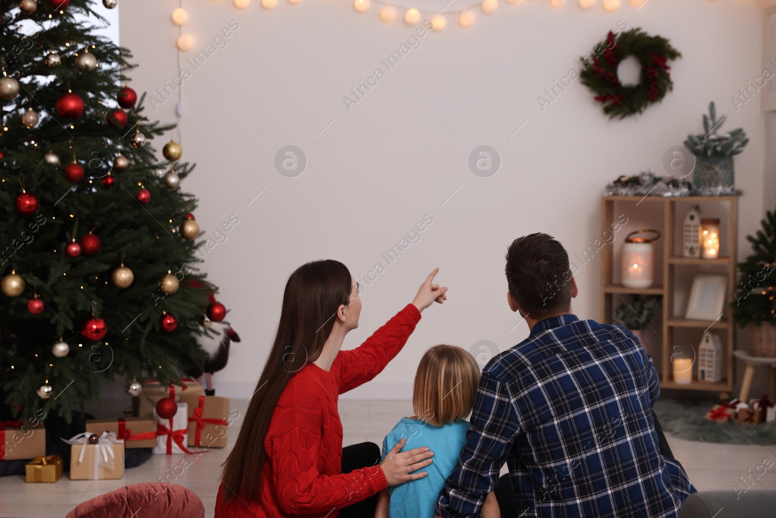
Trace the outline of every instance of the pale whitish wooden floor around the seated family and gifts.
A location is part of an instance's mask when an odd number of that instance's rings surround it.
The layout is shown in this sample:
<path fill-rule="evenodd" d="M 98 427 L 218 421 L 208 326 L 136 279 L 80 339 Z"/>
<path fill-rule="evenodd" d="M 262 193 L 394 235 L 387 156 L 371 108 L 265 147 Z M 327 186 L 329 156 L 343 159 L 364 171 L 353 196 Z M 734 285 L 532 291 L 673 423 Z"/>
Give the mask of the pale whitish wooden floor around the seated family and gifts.
<path fill-rule="evenodd" d="M 233 400 L 233 408 L 244 415 L 247 400 Z M 411 402 L 404 400 L 346 400 L 340 402 L 340 416 L 345 431 L 344 446 L 366 440 L 382 445 L 383 437 L 403 415 L 412 415 Z M 99 415 L 98 415 L 99 416 Z M 241 424 L 240 419 L 235 425 Z M 235 431 L 236 431 L 235 426 Z M 66 473 L 56 484 L 28 484 L 24 478 L 0 478 L 0 516 L 36 516 L 63 518 L 76 504 L 124 485 L 168 478 L 175 484 L 192 489 L 203 500 L 205 516 L 213 516 L 216 502 L 220 464 L 226 458 L 236 434 L 230 435 L 229 446 L 210 450 L 199 456 L 154 455 L 138 468 L 126 470 L 120 480 L 71 481 Z M 741 489 L 740 478 L 749 475 L 765 459 L 776 462 L 776 446 L 739 446 L 698 443 L 675 439 L 668 435 L 674 455 L 688 471 L 699 491 Z M 181 463 L 189 457 L 191 465 L 182 469 Z M 762 471 L 762 470 L 760 470 Z M 180 475 L 176 475 L 176 474 Z M 766 471 L 751 490 L 776 488 L 776 466 Z"/>

